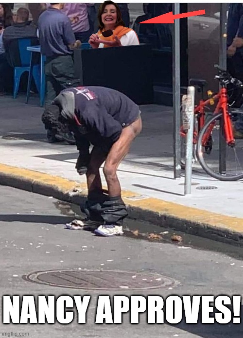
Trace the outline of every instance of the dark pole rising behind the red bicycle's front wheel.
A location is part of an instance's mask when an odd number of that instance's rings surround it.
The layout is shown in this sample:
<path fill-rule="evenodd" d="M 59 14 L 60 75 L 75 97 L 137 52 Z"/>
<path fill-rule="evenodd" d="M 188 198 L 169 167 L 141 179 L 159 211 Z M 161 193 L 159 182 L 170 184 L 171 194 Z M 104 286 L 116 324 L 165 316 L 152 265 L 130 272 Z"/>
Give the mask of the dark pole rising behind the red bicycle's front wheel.
<path fill-rule="evenodd" d="M 220 51 L 219 66 L 227 69 L 226 40 L 227 40 L 227 7 L 226 3 L 220 4 Z M 224 138 L 224 124 L 220 121 L 219 139 L 219 172 L 226 172 L 226 140 Z"/>

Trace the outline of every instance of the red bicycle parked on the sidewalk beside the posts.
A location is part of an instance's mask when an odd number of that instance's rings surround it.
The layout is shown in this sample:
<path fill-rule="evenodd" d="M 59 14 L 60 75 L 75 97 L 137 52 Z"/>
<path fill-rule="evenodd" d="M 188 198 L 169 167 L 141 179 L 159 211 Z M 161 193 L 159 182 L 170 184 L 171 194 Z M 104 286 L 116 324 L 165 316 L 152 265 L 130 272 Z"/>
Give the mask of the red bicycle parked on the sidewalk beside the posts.
<path fill-rule="evenodd" d="M 221 89 L 213 95 L 208 91 L 208 99 L 203 98 L 205 80 L 191 79 L 190 85 L 199 88 L 201 100 L 194 109 L 193 161 L 213 178 L 222 181 L 235 181 L 243 178 L 243 139 L 234 137 L 234 122 L 243 121 L 243 110 L 229 105 L 227 86 L 243 88 L 243 83 L 233 78 L 227 71 L 215 66 L 219 74 Z M 216 104 L 216 107 L 215 107 Z M 209 106 L 215 109 L 210 111 Z M 209 110 L 206 111 L 206 109 Z M 182 154 L 181 164 L 184 166 L 186 132 L 181 127 Z"/>

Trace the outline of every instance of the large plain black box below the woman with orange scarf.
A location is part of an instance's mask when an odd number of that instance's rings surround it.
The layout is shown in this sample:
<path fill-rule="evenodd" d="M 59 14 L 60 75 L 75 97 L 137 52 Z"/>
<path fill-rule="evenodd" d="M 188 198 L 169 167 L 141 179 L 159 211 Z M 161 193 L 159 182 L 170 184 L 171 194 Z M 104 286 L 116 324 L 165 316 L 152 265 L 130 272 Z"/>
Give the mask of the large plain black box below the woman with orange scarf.
<path fill-rule="evenodd" d="M 119 90 L 138 105 L 153 103 L 153 55 L 149 45 L 75 49 L 74 70 L 83 86 Z"/>

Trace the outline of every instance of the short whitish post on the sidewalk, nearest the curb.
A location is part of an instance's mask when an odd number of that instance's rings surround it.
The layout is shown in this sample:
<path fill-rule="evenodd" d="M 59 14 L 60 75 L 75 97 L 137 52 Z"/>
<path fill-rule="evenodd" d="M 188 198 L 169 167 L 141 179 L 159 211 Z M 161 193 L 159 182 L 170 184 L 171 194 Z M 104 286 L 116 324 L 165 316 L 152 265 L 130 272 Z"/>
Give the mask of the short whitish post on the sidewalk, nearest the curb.
<path fill-rule="evenodd" d="M 191 86 L 188 87 L 187 89 L 187 99 L 185 105 L 186 106 L 185 115 L 189 126 L 189 129 L 187 130 L 187 147 L 186 147 L 185 189 L 184 189 L 185 195 L 191 194 L 194 102 L 195 102 L 195 88 Z"/>

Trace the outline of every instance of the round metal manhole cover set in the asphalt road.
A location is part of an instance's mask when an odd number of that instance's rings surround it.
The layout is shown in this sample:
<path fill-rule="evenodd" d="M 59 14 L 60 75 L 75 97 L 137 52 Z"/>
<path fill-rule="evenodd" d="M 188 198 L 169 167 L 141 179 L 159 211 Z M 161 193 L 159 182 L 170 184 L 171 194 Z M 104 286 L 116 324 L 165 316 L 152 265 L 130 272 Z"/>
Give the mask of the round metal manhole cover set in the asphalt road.
<path fill-rule="evenodd" d="M 38 271 L 23 278 L 39 284 L 86 290 L 142 290 L 174 285 L 173 279 L 161 275 L 118 270 Z"/>

